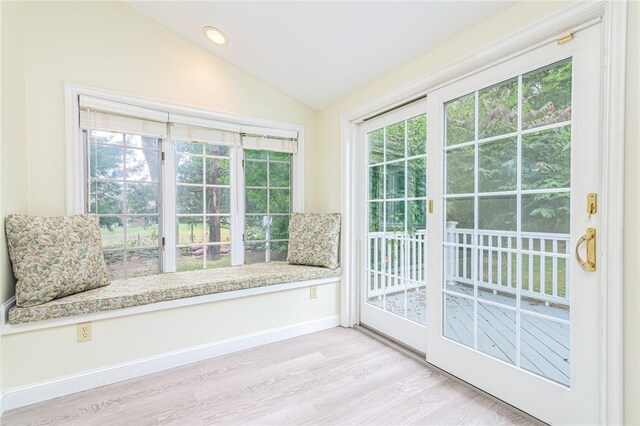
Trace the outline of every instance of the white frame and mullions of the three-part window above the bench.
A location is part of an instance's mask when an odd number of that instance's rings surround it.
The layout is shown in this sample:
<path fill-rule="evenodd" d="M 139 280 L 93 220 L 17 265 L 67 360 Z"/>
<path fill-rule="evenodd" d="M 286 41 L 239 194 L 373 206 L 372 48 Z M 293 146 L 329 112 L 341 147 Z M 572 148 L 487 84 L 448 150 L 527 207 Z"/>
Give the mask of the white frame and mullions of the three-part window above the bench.
<path fill-rule="evenodd" d="M 242 133 L 262 133 L 277 136 L 286 132 L 297 132 L 298 148 L 292 158 L 292 204 L 291 212 L 303 213 L 305 205 L 304 193 L 304 126 L 283 121 L 270 120 L 258 117 L 248 117 L 226 112 L 178 105 L 164 101 L 127 95 L 109 90 L 81 86 L 73 83 L 65 83 L 65 140 L 66 140 L 66 172 L 67 172 L 67 214 L 82 214 L 85 212 L 85 170 L 84 170 L 84 140 L 80 128 L 79 97 L 89 96 L 105 101 L 118 102 L 131 106 L 132 112 L 138 108 L 154 109 L 166 112 L 167 115 L 188 116 L 194 119 L 213 120 Z M 171 126 L 169 126 L 171 127 Z M 161 173 L 162 200 L 175 200 L 175 156 L 174 144 L 171 134 L 163 139 L 162 152 L 164 153 L 164 166 Z M 244 263 L 244 217 L 245 217 L 245 187 L 242 161 L 244 149 L 242 146 L 232 148 L 231 154 L 231 256 L 232 265 Z M 233 190 L 235 188 L 235 190 Z M 163 250 L 161 250 L 161 271 L 174 272 L 176 268 L 176 233 L 175 203 L 163 202 L 161 207 L 161 237 L 165 238 Z"/>

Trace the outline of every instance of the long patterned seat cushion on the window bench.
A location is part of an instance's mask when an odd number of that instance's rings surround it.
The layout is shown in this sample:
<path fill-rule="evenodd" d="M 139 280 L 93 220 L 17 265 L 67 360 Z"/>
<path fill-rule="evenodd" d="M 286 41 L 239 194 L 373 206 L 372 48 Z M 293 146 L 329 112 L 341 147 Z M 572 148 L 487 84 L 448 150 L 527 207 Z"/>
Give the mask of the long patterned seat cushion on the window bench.
<path fill-rule="evenodd" d="M 85 291 L 42 305 L 9 309 L 9 324 L 68 318 L 98 312 L 149 305 L 188 297 L 245 290 L 276 284 L 339 277 L 340 268 L 256 263 L 112 281 L 106 287 Z"/>

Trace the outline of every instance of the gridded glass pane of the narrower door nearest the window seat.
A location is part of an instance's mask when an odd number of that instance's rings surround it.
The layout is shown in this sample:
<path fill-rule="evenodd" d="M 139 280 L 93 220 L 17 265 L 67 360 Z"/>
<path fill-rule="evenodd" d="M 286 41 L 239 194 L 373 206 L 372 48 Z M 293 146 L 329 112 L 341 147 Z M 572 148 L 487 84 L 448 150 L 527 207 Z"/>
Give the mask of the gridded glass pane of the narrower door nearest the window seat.
<path fill-rule="evenodd" d="M 367 133 L 366 302 L 426 323 L 426 115 Z"/>

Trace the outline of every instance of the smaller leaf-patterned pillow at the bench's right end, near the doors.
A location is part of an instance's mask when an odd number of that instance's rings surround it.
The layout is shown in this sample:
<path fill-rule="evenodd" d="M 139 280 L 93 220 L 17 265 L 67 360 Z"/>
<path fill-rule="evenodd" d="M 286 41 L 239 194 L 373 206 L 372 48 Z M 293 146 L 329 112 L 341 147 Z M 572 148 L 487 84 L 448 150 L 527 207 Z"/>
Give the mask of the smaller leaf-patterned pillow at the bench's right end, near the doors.
<path fill-rule="evenodd" d="M 340 214 L 293 213 L 287 262 L 335 269 L 340 248 Z"/>

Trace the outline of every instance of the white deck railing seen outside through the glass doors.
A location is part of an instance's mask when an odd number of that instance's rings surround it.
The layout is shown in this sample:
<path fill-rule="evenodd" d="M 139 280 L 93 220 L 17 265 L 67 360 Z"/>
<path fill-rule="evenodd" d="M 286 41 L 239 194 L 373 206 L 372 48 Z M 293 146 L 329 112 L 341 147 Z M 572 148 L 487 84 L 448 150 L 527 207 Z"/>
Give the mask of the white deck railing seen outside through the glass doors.
<path fill-rule="evenodd" d="M 478 230 L 474 234 L 473 229 L 456 225 L 447 222 L 445 230 L 444 273 L 448 284 L 473 285 L 471 253 L 475 247 L 478 286 L 515 295 L 520 257 L 522 298 L 569 304 L 569 235 L 521 232 L 518 253 L 516 232 Z M 425 232 L 369 234 L 368 297 L 425 285 Z"/>

